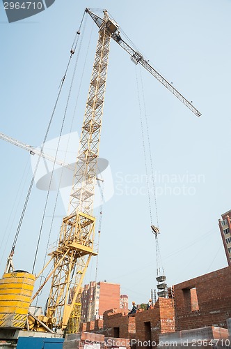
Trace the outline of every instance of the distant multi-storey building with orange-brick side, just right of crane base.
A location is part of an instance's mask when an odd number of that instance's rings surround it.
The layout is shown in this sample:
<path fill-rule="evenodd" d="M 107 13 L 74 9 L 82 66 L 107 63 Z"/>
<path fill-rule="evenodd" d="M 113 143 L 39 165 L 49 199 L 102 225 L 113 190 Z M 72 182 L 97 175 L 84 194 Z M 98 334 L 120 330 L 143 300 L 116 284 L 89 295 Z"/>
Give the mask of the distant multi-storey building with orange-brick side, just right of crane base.
<path fill-rule="evenodd" d="M 81 295 L 81 321 L 102 318 L 104 311 L 120 309 L 120 284 L 91 281 L 84 285 Z"/>

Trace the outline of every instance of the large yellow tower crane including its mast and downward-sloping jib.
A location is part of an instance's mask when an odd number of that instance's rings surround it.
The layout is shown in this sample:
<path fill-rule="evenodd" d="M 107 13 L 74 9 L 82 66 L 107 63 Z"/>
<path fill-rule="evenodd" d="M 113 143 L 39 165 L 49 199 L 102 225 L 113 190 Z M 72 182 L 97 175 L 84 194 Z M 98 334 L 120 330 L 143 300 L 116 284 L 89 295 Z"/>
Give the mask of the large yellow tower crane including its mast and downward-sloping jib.
<path fill-rule="evenodd" d="M 172 84 L 162 77 L 140 52 L 137 52 L 122 39 L 118 24 L 109 17 L 106 10 L 104 10 L 102 18 L 95 15 L 89 8 L 86 8 L 86 13 L 93 18 L 97 27 L 99 27 L 99 37 L 81 129 L 77 166 L 70 195 L 70 209 L 67 216 L 63 218 L 56 248 L 49 253 L 50 260 L 45 266 L 47 268 L 48 265 L 50 266 L 53 263 L 53 267 L 51 267 L 51 271 L 40 285 L 40 288 L 31 297 L 30 303 L 32 304 L 47 281 L 51 279 L 45 315 L 36 318 L 35 315 L 29 312 L 26 320 L 26 324 L 29 323 L 27 328 L 35 331 L 48 330 L 53 332 L 55 328 L 64 330 L 67 327 L 73 307 L 77 304 L 77 297 L 90 258 L 97 255 L 94 249 L 95 217 L 93 215 L 93 202 L 111 38 L 129 53 L 135 64 L 141 64 L 179 98 L 186 107 L 189 107 L 197 117 L 200 117 L 200 112 Z M 40 277 L 44 269 L 36 276 L 36 279 Z M 10 276 L 7 274 L 7 277 Z M 72 297 L 70 297 L 70 292 L 72 292 Z M 1 303 L 0 301 L 0 307 L 2 306 Z M 2 323 L 0 317 L 0 327 Z"/>

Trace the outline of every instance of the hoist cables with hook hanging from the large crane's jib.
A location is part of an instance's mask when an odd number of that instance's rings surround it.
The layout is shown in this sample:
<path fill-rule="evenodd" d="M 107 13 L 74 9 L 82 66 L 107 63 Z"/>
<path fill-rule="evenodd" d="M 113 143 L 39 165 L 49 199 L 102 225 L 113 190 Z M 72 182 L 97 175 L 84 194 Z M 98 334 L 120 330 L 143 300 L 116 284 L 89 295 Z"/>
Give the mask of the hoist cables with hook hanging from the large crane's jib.
<path fill-rule="evenodd" d="M 136 85 L 137 85 L 138 105 L 139 105 L 139 112 L 140 112 L 140 119 L 141 119 L 141 134 L 142 134 L 144 161 L 145 161 L 145 174 L 146 174 L 146 184 L 147 184 L 147 190 L 148 190 L 148 203 L 149 203 L 149 211 L 150 211 L 150 221 L 151 221 L 152 232 L 154 233 L 154 237 L 155 237 L 156 265 L 157 265 L 157 276 L 158 276 L 160 271 L 161 271 L 161 269 L 162 269 L 162 272 L 164 274 L 164 268 L 161 267 L 162 266 L 161 253 L 160 253 L 159 241 L 158 241 L 159 218 L 158 218 L 158 209 L 157 209 L 157 193 L 156 193 L 155 181 L 154 181 L 154 168 L 153 168 L 152 152 L 151 152 L 151 146 L 150 146 L 148 117 L 147 117 L 147 110 L 146 110 L 146 107 L 145 107 L 145 94 L 144 94 L 144 89 L 143 89 L 143 79 L 142 79 L 142 74 L 141 74 L 141 67 L 140 67 L 139 71 L 140 71 L 140 76 L 141 76 L 141 90 L 142 90 L 143 108 L 144 108 L 144 115 L 145 115 L 145 126 L 146 126 L 146 130 L 145 131 L 147 133 L 147 139 L 148 139 L 148 156 L 146 154 L 146 147 L 145 147 L 145 132 L 144 132 L 143 119 L 142 119 L 141 97 L 140 97 L 140 91 L 139 91 L 137 70 L 136 70 Z M 148 160 L 147 160 L 148 157 L 149 157 L 149 161 L 150 161 L 150 168 L 151 168 L 151 175 L 152 175 L 152 187 L 153 187 L 153 193 L 154 193 L 154 207 L 155 207 L 157 227 L 155 227 L 152 224 L 152 204 L 151 204 L 149 177 L 148 177 Z"/>

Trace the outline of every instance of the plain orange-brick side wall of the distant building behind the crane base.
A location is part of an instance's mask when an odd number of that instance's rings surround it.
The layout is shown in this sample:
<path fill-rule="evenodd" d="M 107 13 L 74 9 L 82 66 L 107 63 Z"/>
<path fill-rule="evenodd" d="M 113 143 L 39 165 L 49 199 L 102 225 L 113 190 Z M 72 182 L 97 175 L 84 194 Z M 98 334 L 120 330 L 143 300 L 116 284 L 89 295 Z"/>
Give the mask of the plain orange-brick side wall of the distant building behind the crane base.
<path fill-rule="evenodd" d="M 99 282 L 99 315 L 109 309 L 120 308 L 120 285 L 118 283 Z"/>

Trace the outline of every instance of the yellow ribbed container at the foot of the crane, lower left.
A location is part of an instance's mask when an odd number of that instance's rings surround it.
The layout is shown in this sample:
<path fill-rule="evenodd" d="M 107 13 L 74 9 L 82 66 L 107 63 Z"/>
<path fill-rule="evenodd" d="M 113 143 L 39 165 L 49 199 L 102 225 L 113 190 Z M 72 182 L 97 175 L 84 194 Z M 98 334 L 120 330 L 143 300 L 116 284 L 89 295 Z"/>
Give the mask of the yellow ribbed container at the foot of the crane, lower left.
<path fill-rule="evenodd" d="M 0 279 L 0 327 L 24 328 L 35 276 L 26 272 L 4 274 Z"/>

